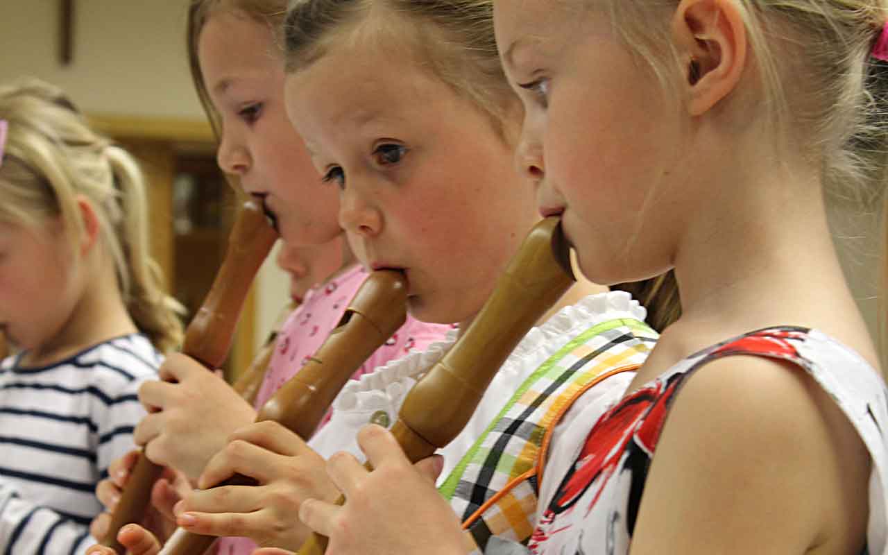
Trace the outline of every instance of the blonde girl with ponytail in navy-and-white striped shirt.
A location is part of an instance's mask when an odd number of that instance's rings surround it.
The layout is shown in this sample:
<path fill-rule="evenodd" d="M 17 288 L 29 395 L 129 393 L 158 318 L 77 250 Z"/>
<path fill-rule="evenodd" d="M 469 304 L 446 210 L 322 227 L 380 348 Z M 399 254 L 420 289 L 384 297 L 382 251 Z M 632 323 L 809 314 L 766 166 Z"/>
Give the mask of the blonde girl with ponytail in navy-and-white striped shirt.
<path fill-rule="evenodd" d="M 0 550 L 83 552 L 133 447 L 139 384 L 178 345 L 134 160 L 58 89 L 0 87 Z"/>

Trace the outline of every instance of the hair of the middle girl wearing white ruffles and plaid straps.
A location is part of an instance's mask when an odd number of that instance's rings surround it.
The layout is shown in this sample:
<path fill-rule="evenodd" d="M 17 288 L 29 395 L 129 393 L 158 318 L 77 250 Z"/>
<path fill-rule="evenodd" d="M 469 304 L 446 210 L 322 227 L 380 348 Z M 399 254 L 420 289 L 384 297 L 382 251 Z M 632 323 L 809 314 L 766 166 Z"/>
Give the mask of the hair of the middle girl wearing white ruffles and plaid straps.
<path fill-rule="evenodd" d="M 382 11 L 382 12 L 381 12 Z M 386 16 L 403 19 L 386 27 Z M 518 98 L 503 73 L 493 27 L 492 0 L 293 0 L 284 23 L 286 68 L 293 73 L 320 59 L 333 41 L 376 16 L 372 30 L 400 33 L 433 75 L 488 115 L 504 140 Z M 392 18 L 387 18 L 391 20 Z M 400 25 L 406 22 L 413 25 Z M 372 31 L 371 31 L 372 32 Z M 352 40 L 360 38 L 357 33 Z M 678 283 L 667 274 L 614 289 L 629 291 L 648 310 L 648 323 L 662 331 L 681 315 Z"/>

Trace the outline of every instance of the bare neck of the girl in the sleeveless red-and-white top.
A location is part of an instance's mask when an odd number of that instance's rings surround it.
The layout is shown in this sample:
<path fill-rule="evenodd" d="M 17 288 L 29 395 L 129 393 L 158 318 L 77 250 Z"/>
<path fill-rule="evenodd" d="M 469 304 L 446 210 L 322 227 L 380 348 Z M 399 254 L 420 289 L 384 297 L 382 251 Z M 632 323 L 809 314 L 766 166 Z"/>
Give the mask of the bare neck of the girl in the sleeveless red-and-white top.
<path fill-rule="evenodd" d="M 678 347 L 670 358 L 754 329 L 798 325 L 823 330 L 876 365 L 836 257 L 819 169 L 749 152 L 746 160 L 765 162 L 710 175 L 715 193 L 699 195 L 678 240 L 683 315 L 663 334 L 662 343 Z M 728 175 L 730 184 L 718 183 Z"/>

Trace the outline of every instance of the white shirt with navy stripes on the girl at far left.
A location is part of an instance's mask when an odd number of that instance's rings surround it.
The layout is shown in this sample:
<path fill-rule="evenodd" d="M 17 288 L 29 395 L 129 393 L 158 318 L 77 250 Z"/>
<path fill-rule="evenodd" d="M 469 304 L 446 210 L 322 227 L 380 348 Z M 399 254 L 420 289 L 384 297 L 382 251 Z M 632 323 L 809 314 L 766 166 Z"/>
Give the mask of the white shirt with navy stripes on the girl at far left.
<path fill-rule="evenodd" d="M 0 554 L 83 553 L 102 510 L 94 489 L 133 448 L 136 392 L 161 356 L 130 335 L 51 366 L 19 361 L 0 362 Z"/>

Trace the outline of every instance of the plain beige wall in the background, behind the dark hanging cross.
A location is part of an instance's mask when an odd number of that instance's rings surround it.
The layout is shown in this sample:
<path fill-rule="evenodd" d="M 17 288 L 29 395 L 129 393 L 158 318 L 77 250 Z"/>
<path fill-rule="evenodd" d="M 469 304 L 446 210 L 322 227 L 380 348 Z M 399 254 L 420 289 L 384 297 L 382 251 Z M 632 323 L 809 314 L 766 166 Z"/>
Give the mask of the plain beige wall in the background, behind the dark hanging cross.
<path fill-rule="evenodd" d="M 89 114 L 203 119 L 185 56 L 187 0 L 75 0 L 67 67 L 59 63 L 59 4 L 0 0 L 0 81 L 40 77 Z M 259 280 L 257 345 L 289 291 L 274 258 Z"/>

